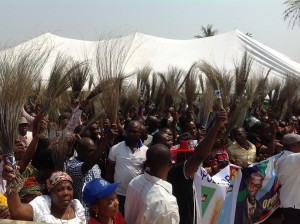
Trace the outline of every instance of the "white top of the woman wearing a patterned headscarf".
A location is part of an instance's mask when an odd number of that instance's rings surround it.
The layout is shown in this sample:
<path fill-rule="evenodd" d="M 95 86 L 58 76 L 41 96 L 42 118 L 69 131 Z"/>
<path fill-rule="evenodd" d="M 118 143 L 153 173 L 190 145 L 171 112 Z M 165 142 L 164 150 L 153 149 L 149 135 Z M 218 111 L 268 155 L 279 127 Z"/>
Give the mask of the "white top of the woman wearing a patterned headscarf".
<path fill-rule="evenodd" d="M 51 214 L 51 198 L 48 195 L 38 196 L 29 203 L 33 208 L 33 221 L 46 223 L 85 224 L 84 208 L 77 199 L 72 200 L 76 217 L 70 220 L 58 219 Z"/>

